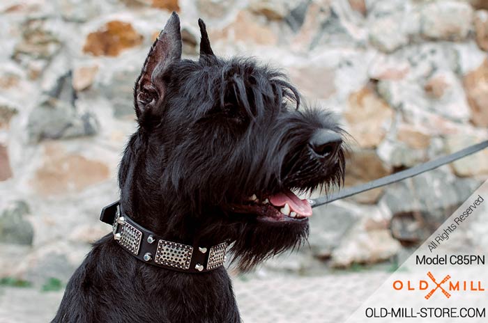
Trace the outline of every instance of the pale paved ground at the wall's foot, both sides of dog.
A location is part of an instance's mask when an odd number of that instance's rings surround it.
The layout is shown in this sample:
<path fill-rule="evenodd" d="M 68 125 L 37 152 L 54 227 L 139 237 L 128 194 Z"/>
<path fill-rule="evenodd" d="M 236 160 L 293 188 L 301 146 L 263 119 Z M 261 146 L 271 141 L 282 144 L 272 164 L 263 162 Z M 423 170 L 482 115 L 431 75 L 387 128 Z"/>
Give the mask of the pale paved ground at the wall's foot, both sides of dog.
<path fill-rule="evenodd" d="M 317 277 L 235 278 L 234 290 L 245 323 L 344 322 L 388 277 L 359 272 Z M 0 323 L 49 322 L 62 292 L 34 288 L 0 289 Z"/>

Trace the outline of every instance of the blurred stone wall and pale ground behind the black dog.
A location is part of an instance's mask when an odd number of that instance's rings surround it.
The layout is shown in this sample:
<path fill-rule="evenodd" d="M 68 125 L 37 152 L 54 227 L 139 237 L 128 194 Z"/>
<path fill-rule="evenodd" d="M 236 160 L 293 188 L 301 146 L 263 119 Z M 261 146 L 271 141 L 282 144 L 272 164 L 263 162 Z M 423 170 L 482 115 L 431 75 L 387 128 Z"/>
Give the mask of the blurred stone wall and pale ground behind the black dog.
<path fill-rule="evenodd" d="M 109 232 L 132 87 L 171 11 L 197 57 L 282 68 L 355 141 L 346 186 L 488 138 L 485 0 L 2 0 L 0 322 L 47 322 Z M 245 322 L 341 322 L 488 178 L 488 151 L 314 211 L 309 244 L 230 269 Z M 481 224 L 488 226 L 488 223 Z M 484 227 L 483 230 L 488 228 Z M 468 244 L 466 239 L 459 243 Z"/>

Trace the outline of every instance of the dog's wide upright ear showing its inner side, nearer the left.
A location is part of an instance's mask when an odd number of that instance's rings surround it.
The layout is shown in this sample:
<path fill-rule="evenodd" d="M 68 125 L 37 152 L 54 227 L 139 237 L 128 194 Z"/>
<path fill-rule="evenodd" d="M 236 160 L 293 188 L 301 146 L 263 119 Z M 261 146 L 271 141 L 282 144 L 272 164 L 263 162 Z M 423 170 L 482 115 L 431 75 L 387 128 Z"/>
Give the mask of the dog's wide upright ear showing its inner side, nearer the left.
<path fill-rule="evenodd" d="M 141 74 L 135 83 L 135 111 L 137 118 L 157 105 L 165 96 L 166 86 L 160 77 L 167 66 L 181 59 L 180 18 L 172 13 L 146 57 Z"/>

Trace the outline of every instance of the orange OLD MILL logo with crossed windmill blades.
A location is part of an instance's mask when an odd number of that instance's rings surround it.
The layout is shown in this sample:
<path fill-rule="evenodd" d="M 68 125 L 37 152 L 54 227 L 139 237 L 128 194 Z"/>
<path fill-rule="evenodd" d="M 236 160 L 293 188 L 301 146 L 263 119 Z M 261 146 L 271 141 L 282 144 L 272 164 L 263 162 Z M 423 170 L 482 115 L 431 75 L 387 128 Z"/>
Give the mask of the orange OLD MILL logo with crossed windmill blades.
<path fill-rule="evenodd" d="M 481 281 L 453 281 L 450 275 L 443 277 L 441 281 L 437 281 L 432 272 L 427 272 L 428 280 L 420 281 L 394 281 L 394 290 L 426 290 L 425 299 L 430 299 L 432 295 L 438 290 L 444 294 L 446 298 L 451 297 L 452 292 L 484 292 L 485 288 Z"/>

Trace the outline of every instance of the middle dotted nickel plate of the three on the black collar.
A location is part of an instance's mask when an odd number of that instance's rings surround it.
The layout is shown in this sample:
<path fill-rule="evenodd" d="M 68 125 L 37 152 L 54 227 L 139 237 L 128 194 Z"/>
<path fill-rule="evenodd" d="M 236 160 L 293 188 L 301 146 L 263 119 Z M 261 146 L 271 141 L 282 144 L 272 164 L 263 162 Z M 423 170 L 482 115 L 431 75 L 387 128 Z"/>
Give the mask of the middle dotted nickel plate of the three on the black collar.
<path fill-rule="evenodd" d="M 158 242 L 158 250 L 154 256 L 154 262 L 169 267 L 189 269 L 192 253 L 192 246 L 160 240 Z"/>

